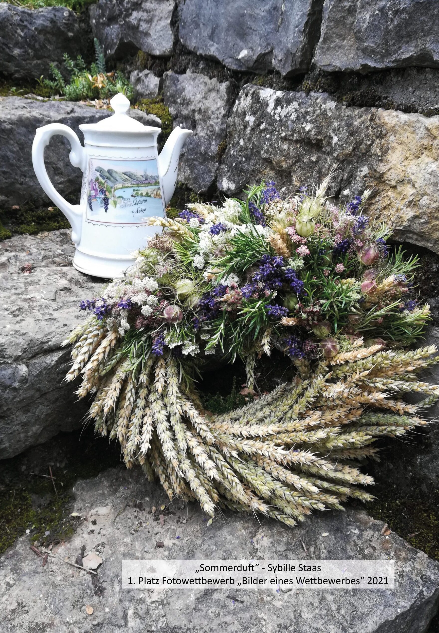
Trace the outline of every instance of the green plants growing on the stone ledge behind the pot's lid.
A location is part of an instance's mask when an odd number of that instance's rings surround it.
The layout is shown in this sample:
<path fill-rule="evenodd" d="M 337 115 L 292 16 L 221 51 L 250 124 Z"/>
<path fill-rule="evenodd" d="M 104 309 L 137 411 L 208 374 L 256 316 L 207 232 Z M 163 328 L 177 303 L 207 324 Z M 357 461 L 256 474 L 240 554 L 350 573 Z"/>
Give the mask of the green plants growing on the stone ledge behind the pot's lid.
<path fill-rule="evenodd" d="M 120 72 L 106 72 L 105 58 L 101 44 L 94 39 L 96 61 L 87 69 L 82 56 L 72 60 L 68 54 L 63 55 L 63 72 L 51 63 L 51 75 L 47 79 L 41 76 L 39 86 L 46 89 L 50 96 L 56 94 L 65 96 L 68 101 L 82 101 L 83 99 L 111 99 L 114 94 L 122 92 L 128 99 L 133 96 L 133 87 Z M 68 81 L 65 80 L 68 76 Z"/>

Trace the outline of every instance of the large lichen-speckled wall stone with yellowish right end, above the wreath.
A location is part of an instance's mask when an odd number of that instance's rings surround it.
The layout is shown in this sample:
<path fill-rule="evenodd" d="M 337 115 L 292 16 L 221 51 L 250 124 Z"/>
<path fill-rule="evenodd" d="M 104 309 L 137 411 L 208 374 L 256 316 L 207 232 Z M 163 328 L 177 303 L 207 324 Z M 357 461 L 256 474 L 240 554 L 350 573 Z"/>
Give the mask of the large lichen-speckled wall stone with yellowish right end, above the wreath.
<path fill-rule="evenodd" d="M 273 179 L 297 191 L 337 165 L 332 195 L 374 187 L 369 209 L 395 238 L 438 251 L 438 137 L 439 116 L 346 108 L 327 94 L 247 84 L 228 120 L 218 188 L 230 195 Z"/>

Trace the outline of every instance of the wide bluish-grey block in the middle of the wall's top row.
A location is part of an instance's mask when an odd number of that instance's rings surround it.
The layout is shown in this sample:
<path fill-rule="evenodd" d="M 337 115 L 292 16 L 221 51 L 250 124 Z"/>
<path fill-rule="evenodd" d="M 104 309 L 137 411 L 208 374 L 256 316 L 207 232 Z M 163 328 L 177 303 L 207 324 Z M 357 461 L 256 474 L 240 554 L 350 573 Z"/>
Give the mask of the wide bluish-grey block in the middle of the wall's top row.
<path fill-rule="evenodd" d="M 234 70 L 306 72 L 319 37 L 322 0 L 185 0 L 180 40 Z"/>

